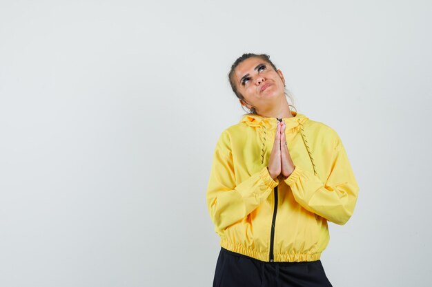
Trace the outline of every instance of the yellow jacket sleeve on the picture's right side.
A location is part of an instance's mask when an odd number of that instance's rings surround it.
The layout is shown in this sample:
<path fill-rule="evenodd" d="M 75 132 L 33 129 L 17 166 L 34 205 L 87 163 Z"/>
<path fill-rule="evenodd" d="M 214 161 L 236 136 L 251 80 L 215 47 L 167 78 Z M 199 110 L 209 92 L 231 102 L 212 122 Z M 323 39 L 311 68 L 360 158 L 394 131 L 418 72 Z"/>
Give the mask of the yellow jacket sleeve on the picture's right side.
<path fill-rule="evenodd" d="M 297 165 L 284 181 L 295 200 L 313 213 L 335 224 L 344 225 L 353 215 L 359 187 L 339 136 L 335 134 L 330 174 L 325 184 L 310 171 Z"/>

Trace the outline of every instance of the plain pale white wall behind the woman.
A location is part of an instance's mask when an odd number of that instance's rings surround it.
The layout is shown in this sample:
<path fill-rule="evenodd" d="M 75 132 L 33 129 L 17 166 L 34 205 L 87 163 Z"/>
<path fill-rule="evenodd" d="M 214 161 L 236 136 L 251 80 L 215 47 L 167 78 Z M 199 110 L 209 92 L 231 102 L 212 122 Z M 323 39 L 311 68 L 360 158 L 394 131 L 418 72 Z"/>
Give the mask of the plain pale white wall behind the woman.
<path fill-rule="evenodd" d="M 206 187 L 267 53 L 360 194 L 333 286 L 431 286 L 431 1 L 0 2 L 0 286 L 211 286 Z"/>

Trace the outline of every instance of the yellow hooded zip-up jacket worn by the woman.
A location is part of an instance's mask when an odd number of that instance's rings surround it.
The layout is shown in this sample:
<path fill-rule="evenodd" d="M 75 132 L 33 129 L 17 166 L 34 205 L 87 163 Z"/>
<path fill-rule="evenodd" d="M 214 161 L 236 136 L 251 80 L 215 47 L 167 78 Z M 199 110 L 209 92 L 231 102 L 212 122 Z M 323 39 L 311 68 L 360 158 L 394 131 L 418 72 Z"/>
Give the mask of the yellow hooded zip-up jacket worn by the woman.
<path fill-rule="evenodd" d="M 225 129 L 213 154 L 206 201 L 223 248 L 265 262 L 320 259 L 327 221 L 351 217 L 359 187 L 342 141 L 323 123 L 283 118 L 295 169 L 273 180 L 267 165 L 277 118 L 246 115 Z"/>

